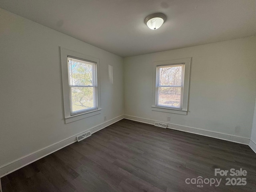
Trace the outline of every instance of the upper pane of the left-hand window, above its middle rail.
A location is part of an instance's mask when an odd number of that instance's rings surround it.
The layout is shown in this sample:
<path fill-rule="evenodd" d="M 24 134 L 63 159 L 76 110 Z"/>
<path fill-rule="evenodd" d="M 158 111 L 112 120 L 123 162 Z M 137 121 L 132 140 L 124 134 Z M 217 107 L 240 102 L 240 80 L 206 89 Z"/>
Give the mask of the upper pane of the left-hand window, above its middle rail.
<path fill-rule="evenodd" d="M 95 85 L 95 64 L 68 58 L 69 85 Z"/>

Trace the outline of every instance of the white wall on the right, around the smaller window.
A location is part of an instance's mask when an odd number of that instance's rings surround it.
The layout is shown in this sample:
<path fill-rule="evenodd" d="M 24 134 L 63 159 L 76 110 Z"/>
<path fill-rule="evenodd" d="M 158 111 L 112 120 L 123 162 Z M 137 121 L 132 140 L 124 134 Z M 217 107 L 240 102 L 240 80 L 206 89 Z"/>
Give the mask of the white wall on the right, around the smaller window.
<path fill-rule="evenodd" d="M 151 123 L 167 122 L 170 116 L 167 123 L 180 125 L 174 128 L 248 144 L 256 96 L 255 50 L 253 36 L 125 58 L 125 117 Z M 186 57 L 192 57 L 188 115 L 152 111 L 153 62 Z"/>

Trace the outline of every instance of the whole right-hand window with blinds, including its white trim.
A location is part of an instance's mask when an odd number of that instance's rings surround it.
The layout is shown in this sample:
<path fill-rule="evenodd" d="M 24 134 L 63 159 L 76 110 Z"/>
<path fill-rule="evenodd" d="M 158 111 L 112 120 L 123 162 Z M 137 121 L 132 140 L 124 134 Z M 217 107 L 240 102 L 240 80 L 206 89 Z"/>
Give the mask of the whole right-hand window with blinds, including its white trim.
<path fill-rule="evenodd" d="M 187 114 L 190 60 L 154 62 L 152 110 Z"/>

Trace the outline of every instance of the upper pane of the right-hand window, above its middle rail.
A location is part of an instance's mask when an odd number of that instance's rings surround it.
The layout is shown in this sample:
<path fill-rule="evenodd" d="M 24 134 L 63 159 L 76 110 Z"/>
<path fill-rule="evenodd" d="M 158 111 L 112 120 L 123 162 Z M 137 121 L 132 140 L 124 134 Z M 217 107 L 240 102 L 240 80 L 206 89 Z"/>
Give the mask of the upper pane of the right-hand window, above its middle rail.
<path fill-rule="evenodd" d="M 158 68 L 158 85 L 181 86 L 182 66 L 168 66 Z"/>

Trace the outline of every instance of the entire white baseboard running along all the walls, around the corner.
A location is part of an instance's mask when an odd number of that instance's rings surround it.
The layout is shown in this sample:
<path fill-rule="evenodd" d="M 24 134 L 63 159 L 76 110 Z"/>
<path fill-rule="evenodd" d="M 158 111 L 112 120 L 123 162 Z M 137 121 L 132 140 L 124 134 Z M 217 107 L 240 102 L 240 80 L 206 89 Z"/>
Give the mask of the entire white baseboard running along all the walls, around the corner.
<path fill-rule="evenodd" d="M 97 126 L 94 126 L 92 128 L 90 128 L 89 130 L 91 131 L 91 133 L 95 133 L 107 126 L 110 126 L 111 124 L 118 122 L 120 120 L 122 120 L 123 118 L 125 119 L 129 119 L 129 120 L 133 120 L 133 121 L 137 121 L 137 122 L 142 122 L 142 123 L 147 123 L 147 124 L 152 124 L 154 125 L 154 122 L 156 120 L 150 120 L 150 119 L 146 119 L 146 118 L 139 118 L 139 117 L 134 117 L 134 116 L 129 116 L 129 115 L 121 115 L 118 116 L 116 118 L 113 118 L 111 120 L 108 120 L 102 124 L 99 124 Z M 239 137 L 239 136 L 234 136 L 234 135 L 228 135 L 228 134 L 223 134 L 223 133 L 218 133 L 218 132 L 212 132 L 212 131 L 208 131 L 208 130 L 202 130 L 202 129 L 198 129 L 198 128 L 192 128 L 192 127 L 186 127 L 186 126 L 180 126 L 180 125 L 176 125 L 176 124 L 170 124 L 168 122 L 163 122 L 168 124 L 168 128 L 174 129 L 174 130 L 180 130 L 180 131 L 184 131 L 184 132 L 189 132 L 189 133 L 194 133 L 194 134 L 199 134 L 199 135 L 203 135 L 203 136 L 208 136 L 208 137 L 212 137 L 212 138 L 218 138 L 218 139 L 222 139 L 222 140 L 227 140 L 227 141 L 232 141 L 232 142 L 236 142 L 236 143 L 241 143 L 241 144 L 246 144 L 249 145 L 250 148 L 252 148 L 252 150 L 256 153 L 256 144 L 250 140 L 249 138 L 244 138 L 244 137 Z M 84 130 L 84 131 L 88 131 L 88 130 Z M 83 132 L 84 132 L 83 131 Z M 82 133 L 82 132 L 81 132 Z M 7 174 L 10 174 L 32 162 L 35 162 L 36 160 L 39 160 L 40 158 L 43 158 L 55 151 L 58 151 L 74 142 L 76 142 L 76 136 L 81 134 L 78 133 L 74 136 L 71 136 L 70 138 L 66 138 L 62 141 L 56 142 L 50 146 L 47 146 L 43 149 L 40 149 L 36 152 L 33 152 L 31 154 L 28 154 L 26 156 L 23 156 L 19 159 L 16 159 L 8 164 L 5 164 L 3 166 L 0 167 L 0 178 L 3 176 L 6 176 Z M 0 189 L 1 189 L 1 180 L 0 180 Z M 0 190 L 0 192 L 2 192 Z"/>

